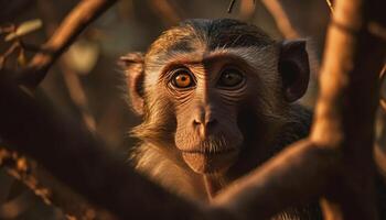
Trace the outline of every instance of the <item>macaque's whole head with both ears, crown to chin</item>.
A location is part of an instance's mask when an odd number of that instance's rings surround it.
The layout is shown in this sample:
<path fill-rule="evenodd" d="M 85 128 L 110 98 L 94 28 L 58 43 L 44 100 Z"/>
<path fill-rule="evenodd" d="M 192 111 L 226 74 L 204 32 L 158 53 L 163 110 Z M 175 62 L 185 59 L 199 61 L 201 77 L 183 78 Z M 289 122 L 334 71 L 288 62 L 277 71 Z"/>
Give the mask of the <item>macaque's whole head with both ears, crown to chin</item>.
<path fill-rule="evenodd" d="M 286 120 L 307 90 L 304 41 L 276 42 L 236 20 L 190 20 L 122 57 L 143 122 L 133 134 L 200 174 L 227 170 Z M 247 151 L 246 151 L 247 152 Z"/>

